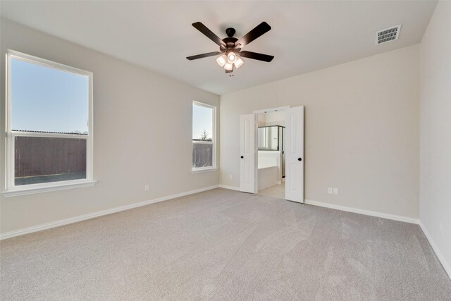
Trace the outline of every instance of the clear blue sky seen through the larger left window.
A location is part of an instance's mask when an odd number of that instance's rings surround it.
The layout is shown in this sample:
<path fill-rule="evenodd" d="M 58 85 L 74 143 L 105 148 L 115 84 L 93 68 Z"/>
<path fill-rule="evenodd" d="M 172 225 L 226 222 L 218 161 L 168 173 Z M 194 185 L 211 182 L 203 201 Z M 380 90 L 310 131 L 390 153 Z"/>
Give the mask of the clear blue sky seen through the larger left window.
<path fill-rule="evenodd" d="M 89 78 L 11 59 L 11 128 L 88 130 Z"/>

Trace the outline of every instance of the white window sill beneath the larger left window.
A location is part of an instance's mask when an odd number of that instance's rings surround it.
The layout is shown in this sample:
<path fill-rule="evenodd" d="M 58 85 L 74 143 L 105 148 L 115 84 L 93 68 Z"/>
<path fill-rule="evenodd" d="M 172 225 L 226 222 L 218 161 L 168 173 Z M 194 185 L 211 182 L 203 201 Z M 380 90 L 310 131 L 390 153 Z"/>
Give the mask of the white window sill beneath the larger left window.
<path fill-rule="evenodd" d="M 58 184 L 61 183 L 61 184 Z M 61 182 L 50 182 L 50 183 L 42 183 L 42 185 L 37 186 L 37 184 L 33 185 L 24 185 L 24 186 L 16 186 L 20 187 L 17 189 L 5 190 L 1 192 L 4 197 L 17 197 L 18 195 L 32 195 L 34 193 L 42 193 L 42 192 L 51 192 L 58 190 L 67 190 L 67 189 L 75 189 L 75 188 L 84 188 L 84 187 L 92 187 L 96 185 L 97 181 L 87 181 L 83 180 L 68 180 Z M 51 184 L 51 185 L 49 185 Z M 31 187 L 30 187 L 31 186 Z"/>

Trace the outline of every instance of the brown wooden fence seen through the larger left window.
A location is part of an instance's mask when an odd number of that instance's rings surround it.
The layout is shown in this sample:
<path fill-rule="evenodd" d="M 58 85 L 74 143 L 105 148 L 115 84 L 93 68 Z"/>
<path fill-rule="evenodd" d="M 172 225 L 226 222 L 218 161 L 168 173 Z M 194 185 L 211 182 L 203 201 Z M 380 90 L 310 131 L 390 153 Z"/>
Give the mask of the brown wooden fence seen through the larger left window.
<path fill-rule="evenodd" d="M 14 140 L 16 178 L 86 171 L 86 140 L 21 137 Z"/>

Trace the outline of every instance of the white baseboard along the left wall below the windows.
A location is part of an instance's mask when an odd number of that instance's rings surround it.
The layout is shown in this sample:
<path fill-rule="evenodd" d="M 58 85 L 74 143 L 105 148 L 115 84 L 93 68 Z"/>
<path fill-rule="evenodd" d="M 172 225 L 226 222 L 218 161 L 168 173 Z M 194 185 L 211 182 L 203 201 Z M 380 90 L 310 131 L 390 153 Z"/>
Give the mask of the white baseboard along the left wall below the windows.
<path fill-rule="evenodd" d="M 16 231 L 10 231 L 10 232 L 6 232 L 6 233 L 1 233 L 0 234 L 0 240 L 4 240 L 6 238 L 13 238 L 15 236 L 19 236 L 19 235 L 24 235 L 24 234 L 29 234 L 29 233 L 34 233 L 34 232 L 38 232 L 38 231 L 43 231 L 43 230 L 47 230 L 50 228 L 56 228 L 59 226 L 64 226 L 64 225 L 68 225 L 69 223 L 77 223 L 78 221 L 85 221 L 87 219 L 94 219 L 95 217 L 99 217 L 99 216 L 104 216 L 104 215 L 108 215 L 108 214 L 113 214 L 116 212 L 120 212 L 120 211 L 125 211 L 128 209 L 133 209 L 136 207 L 142 207 L 148 204 L 154 204 L 157 202 L 163 202 L 163 201 L 167 201 L 168 199 L 175 199 L 177 197 L 184 197 L 185 195 L 193 195 L 194 193 L 198 193 L 198 192 L 203 192 L 206 190 L 212 190 L 215 188 L 219 188 L 219 185 L 214 185 L 214 186 L 210 186 L 210 187 L 206 187 L 206 188 L 200 188 L 197 190 L 191 190 L 191 191 L 187 191 L 187 192 L 181 192 L 175 195 L 168 195 L 166 197 L 158 197 L 156 199 L 150 199 L 148 201 L 144 201 L 144 202 L 138 202 L 135 204 L 129 204 L 129 205 L 125 205 L 125 206 L 121 206 L 121 207 L 114 207 L 111 209 L 106 209 L 106 210 L 101 210 L 101 211 L 97 211 L 97 212 L 93 212 L 90 214 L 83 214 L 80 216 L 75 216 L 75 217 L 70 217 L 69 219 L 61 219 L 60 221 L 52 221 L 51 223 L 43 223 L 41 225 L 38 226 L 32 226 L 32 227 L 28 227 L 28 228 L 23 228 L 20 230 L 16 230 Z"/>

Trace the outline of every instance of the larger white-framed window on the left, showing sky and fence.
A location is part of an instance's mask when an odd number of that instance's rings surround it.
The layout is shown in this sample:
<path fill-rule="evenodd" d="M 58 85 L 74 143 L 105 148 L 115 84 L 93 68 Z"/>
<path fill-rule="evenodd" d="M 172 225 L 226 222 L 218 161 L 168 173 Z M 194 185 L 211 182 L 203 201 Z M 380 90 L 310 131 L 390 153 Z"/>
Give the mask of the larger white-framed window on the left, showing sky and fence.
<path fill-rule="evenodd" d="M 6 195 L 92 183 L 92 73 L 8 50 L 7 75 Z"/>

